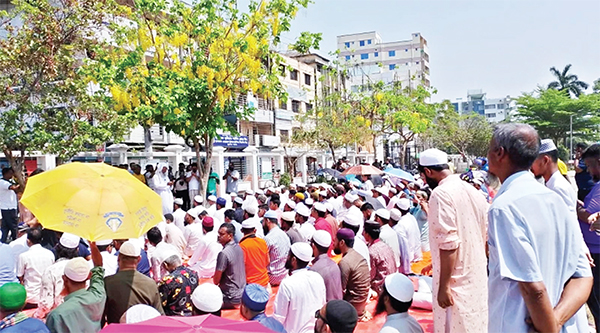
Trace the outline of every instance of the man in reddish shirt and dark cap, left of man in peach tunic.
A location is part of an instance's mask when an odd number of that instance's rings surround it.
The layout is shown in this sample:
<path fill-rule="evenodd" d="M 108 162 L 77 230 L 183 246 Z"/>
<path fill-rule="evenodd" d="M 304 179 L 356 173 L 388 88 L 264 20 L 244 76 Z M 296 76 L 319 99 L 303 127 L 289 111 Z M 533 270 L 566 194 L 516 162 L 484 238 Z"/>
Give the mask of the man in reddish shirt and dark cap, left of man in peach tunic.
<path fill-rule="evenodd" d="M 377 294 L 381 293 L 381 286 L 386 276 L 396 273 L 398 268 L 394 260 L 394 251 L 379 239 L 381 227 L 373 221 L 365 222 L 363 236 L 369 245 L 371 259 L 371 289 Z M 397 238 L 397 237 L 396 237 Z"/>

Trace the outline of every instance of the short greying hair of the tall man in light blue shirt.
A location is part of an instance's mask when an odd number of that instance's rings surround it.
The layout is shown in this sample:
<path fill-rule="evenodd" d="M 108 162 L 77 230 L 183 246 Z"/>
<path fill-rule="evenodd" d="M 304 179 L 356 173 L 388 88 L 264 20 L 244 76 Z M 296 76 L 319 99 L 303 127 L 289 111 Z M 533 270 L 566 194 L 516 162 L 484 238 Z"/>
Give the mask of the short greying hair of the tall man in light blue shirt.
<path fill-rule="evenodd" d="M 493 134 L 496 147 L 502 147 L 510 161 L 519 169 L 529 169 L 540 152 L 540 137 L 537 131 L 527 124 L 499 124 Z"/>

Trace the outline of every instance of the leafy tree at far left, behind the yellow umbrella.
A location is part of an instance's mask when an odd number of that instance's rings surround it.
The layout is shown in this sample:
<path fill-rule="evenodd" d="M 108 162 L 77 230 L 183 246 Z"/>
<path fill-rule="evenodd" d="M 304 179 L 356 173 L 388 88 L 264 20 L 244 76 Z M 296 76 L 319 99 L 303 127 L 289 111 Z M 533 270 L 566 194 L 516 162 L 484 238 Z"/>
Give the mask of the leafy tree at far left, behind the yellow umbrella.
<path fill-rule="evenodd" d="M 103 44 L 98 32 L 110 1 L 11 3 L 10 12 L 0 12 L 0 146 L 24 185 L 26 153 L 68 159 L 120 140 L 129 124 L 91 93 L 94 84 L 80 68 Z"/>

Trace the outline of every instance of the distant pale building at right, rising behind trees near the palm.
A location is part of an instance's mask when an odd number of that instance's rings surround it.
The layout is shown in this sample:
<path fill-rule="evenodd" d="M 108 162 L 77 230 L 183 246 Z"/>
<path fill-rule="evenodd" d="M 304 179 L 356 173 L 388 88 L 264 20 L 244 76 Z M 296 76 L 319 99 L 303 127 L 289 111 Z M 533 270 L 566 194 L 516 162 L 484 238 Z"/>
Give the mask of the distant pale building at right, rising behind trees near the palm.
<path fill-rule="evenodd" d="M 468 90 L 466 99 L 457 98 L 452 105 L 459 114 L 478 113 L 492 123 L 505 120 L 516 109 L 516 102 L 510 96 L 486 98 L 481 89 Z"/>

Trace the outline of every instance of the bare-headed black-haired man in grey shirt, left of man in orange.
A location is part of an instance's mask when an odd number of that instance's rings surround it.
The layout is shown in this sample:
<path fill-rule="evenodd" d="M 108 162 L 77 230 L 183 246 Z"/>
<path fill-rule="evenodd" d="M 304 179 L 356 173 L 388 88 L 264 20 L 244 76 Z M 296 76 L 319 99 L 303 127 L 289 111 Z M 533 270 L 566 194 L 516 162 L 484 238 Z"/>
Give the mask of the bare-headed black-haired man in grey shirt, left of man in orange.
<path fill-rule="evenodd" d="M 217 256 L 213 282 L 223 292 L 223 309 L 239 307 L 246 287 L 246 267 L 242 260 L 244 251 L 233 240 L 234 234 L 235 227 L 231 223 L 225 223 L 219 228 L 218 241 L 223 245 L 223 251 Z"/>

